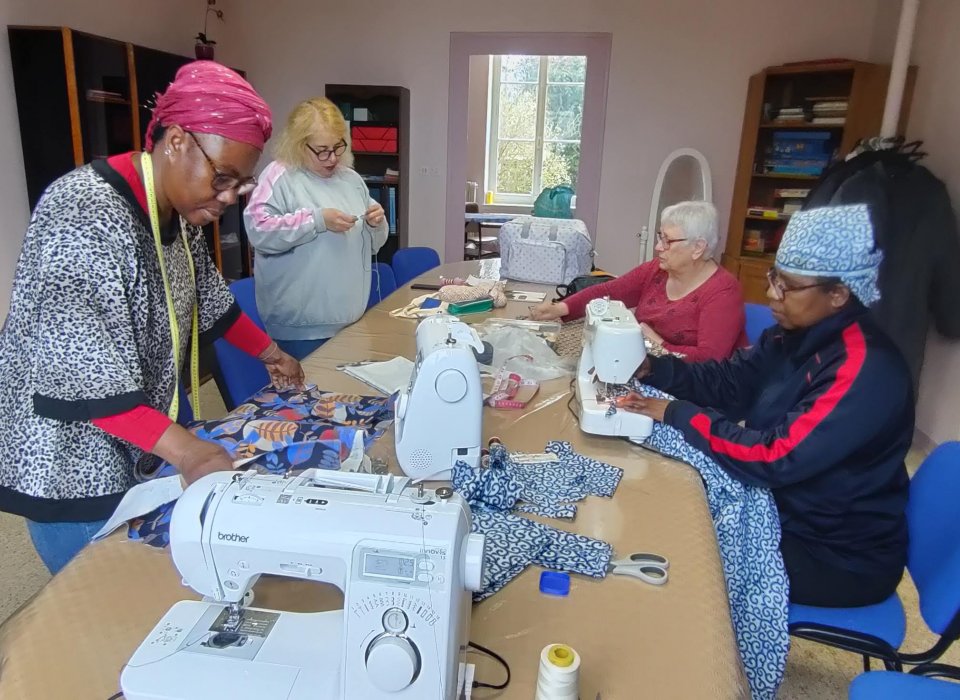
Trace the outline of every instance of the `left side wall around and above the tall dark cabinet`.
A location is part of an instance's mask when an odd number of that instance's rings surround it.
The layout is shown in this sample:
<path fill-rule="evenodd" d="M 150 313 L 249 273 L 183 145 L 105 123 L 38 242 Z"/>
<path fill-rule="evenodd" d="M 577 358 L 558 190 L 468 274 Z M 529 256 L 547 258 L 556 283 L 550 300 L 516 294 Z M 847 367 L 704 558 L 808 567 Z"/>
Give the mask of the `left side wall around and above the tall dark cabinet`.
<path fill-rule="evenodd" d="M 205 7 L 203 0 L 0 1 L 0 319 L 7 313 L 13 271 L 30 218 L 6 26 L 67 26 L 192 56 L 193 37 L 202 28 Z M 211 28 L 213 38 L 219 36 L 218 30 Z"/>

